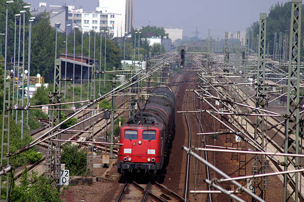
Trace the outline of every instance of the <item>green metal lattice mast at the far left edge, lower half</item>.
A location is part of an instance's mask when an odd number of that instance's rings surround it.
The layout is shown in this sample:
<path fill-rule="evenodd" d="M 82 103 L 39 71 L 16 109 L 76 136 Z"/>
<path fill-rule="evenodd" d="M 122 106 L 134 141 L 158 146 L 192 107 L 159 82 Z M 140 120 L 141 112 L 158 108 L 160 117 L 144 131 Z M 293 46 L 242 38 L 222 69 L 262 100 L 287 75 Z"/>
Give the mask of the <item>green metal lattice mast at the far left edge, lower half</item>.
<path fill-rule="evenodd" d="M 10 84 L 9 82 L 4 82 L 4 92 L 3 92 L 3 116 L 2 116 L 2 140 L 1 140 L 1 168 L 9 165 L 9 119 L 10 111 L 7 107 L 10 107 Z M 2 192 L 5 190 L 5 193 Z M 6 174 L 6 179 L 2 180 L 2 175 L 0 176 L 0 202 L 8 202 L 8 191 L 9 191 L 9 173 Z"/>

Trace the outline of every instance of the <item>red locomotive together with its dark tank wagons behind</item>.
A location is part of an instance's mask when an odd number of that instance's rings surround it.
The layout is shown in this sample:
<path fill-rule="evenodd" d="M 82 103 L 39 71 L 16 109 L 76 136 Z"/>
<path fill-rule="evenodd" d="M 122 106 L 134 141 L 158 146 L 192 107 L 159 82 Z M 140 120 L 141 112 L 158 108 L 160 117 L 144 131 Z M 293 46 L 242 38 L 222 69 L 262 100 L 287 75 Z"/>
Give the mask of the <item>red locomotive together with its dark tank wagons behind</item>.
<path fill-rule="evenodd" d="M 167 87 L 152 91 L 144 109 L 132 115 L 120 128 L 118 172 L 156 173 L 164 160 L 174 137 L 174 94 Z"/>

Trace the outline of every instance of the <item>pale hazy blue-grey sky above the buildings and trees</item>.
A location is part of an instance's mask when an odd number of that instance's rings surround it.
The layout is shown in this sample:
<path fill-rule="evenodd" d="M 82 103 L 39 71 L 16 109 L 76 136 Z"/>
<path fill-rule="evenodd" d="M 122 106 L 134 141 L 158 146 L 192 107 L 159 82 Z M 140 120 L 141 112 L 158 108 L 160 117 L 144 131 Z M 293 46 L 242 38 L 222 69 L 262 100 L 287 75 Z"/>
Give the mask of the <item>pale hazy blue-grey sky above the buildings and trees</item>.
<path fill-rule="evenodd" d="M 67 3 L 84 10 L 95 10 L 97 0 L 25 0 L 32 7 L 39 2 L 48 5 Z M 226 31 L 245 31 L 259 20 L 260 12 L 269 12 L 272 4 L 288 0 L 135 0 L 135 27 L 149 24 L 165 28 L 183 29 L 183 35 L 192 37 L 196 26 L 199 37 L 205 38 L 210 28 L 213 37 L 222 38 Z M 85 3 L 84 3 L 85 2 Z"/>

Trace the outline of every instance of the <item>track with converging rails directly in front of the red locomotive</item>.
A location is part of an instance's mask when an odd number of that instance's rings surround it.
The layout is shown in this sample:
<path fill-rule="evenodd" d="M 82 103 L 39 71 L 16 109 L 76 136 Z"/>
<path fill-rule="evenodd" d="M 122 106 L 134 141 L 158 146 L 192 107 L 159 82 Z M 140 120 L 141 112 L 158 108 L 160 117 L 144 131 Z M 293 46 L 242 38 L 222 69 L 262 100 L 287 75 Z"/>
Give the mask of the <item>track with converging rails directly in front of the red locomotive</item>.
<path fill-rule="evenodd" d="M 185 202 L 178 194 L 157 182 L 126 182 L 116 202 Z"/>

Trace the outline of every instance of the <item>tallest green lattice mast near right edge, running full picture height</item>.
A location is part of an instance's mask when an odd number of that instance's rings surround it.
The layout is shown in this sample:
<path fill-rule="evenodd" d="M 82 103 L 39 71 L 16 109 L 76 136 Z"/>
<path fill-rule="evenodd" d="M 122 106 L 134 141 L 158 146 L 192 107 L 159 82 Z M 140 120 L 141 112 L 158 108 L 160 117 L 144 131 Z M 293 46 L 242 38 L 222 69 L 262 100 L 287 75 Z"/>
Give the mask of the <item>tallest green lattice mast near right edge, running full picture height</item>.
<path fill-rule="evenodd" d="M 290 25 L 290 41 L 289 41 L 289 65 L 288 65 L 288 85 L 287 85 L 287 107 L 286 107 L 286 126 L 285 126 L 285 146 L 284 153 L 299 154 L 299 133 L 300 133 L 300 52 L 301 52 L 301 11 L 302 0 L 292 0 L 291 9 L 291 25 Z M 297 78 L 292 80 L 291 78 Z M 291 96 L 291 89 L 294 95 Z M 294 140 L 289 137 L 293 135 Z M 285 157 L 284 171 L 291 169 L 299 169 L 299 157 Z M 301 173 L 293 173 L 284 175 L 283 201 L 301 201 L 299 199 L 299 175 Z M 287 186 L 294 179 L 295 189 L 289 193 Z M 301 186 L 301 185 L 300 185 Z M 301 196 L 301 193 L 300 193 Z"/>

